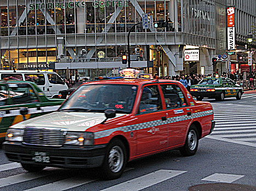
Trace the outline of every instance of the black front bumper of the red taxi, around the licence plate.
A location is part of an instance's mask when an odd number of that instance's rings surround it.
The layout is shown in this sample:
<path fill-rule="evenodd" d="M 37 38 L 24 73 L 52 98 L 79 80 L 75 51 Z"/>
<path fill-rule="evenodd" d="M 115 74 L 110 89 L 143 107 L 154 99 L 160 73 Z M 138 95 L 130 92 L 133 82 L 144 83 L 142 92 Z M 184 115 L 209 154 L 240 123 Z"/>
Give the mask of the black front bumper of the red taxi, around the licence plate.
<path fill-rule="evenodd" d="M 12 162 L 52 166 L 58 168 L 94 168 L 101 166 L 107 145 L 43 147 L 26 146 L 21 142 L 6 141 L 3 150 Z M 50 157 L 49 163 L 36 163 L 32 160 L 33 152 L 45 152 Z"/>

